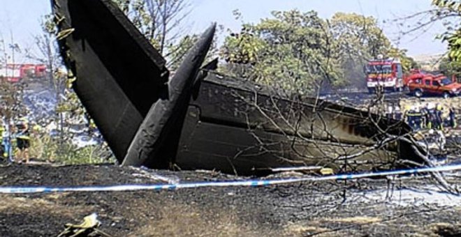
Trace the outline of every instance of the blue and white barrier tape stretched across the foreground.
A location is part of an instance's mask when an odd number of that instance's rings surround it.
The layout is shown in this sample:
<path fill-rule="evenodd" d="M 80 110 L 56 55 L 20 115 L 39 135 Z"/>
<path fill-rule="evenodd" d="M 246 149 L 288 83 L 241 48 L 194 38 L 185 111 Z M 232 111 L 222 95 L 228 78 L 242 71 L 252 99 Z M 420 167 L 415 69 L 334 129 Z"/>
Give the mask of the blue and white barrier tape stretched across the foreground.
<path fill-rule="evenodd" d="M 350 180 L 357 178 L 370 178 L 376 176 L 391 176 L 399 174 L 418 174 L 424 172 L 436 171 L 454 171 L 460 170 L 461 165 L 446 165 L 440 167 L 425 167 L 418 169 L 402 169 L 394 171 L 379 171 L 362 174 L 338 174 L 321 177 L 305 177 L 305 178 L 284 178 L 261 180 L 253 179 L 247 181 L 218 181 L 218 182 L 196 182 L 196 183 L 169 183 L 169 184 L 139 184 L 139 185 L 108 185 L 108 186 L 76 186 L 76 187 L 0 187 L 0 193 L 37 193 L 37 192 L 108 192 L 108 191 L 136 191 L 136 190 L 177 190 L 182 188 L 204 188 L 204 187 L 231 187 L 231 186 L 266 186 L 296 183 L 304 181 L 334 181 L 334 180 Z"/>

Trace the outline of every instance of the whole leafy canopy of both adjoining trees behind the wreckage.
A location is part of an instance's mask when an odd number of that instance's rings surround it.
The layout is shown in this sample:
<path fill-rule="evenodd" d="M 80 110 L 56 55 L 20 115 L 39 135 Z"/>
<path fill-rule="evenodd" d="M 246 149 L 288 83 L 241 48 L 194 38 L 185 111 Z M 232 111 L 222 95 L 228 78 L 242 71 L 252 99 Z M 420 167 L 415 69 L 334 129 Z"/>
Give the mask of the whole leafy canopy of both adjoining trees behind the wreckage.
<path fill-rule="evenodd" d="M 374 17 L 314 11 L 275 11 L 257 24 L 242 24 L 226 37 L 221 56 L 228 73 L 263 84 L 310 93 L 325 84 L 363 86 L 363 66 L 379 54 L 398 57 L 404 70 L 415 63 L 393 47 Z"/>

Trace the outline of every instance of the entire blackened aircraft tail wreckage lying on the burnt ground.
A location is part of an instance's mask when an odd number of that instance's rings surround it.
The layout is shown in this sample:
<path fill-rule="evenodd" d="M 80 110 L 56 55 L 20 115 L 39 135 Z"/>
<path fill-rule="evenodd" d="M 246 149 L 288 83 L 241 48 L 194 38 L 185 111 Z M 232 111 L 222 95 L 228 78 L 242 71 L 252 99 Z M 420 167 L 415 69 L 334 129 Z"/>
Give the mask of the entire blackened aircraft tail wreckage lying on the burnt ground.
<path fill-rule="evenodd" d="M 52 4 L 73 89 L 122 165 L 254 174 L 386 169 L 417 157 L 395 139 L 410 131 L 404 123 L 220 75 L 216 60 L 200 68 L 214 25 L 170 77 L 166 60 L 112 1 Z"/>

